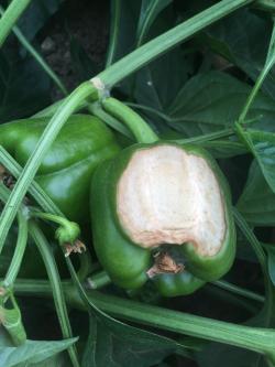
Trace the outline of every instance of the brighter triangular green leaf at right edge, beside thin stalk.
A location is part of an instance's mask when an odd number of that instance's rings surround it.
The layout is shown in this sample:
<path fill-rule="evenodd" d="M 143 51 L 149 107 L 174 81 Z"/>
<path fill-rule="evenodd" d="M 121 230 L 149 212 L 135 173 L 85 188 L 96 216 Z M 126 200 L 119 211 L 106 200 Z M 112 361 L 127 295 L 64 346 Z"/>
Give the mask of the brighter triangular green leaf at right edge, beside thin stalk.
<path fill-rule="evenodd" d="M 275 193 L 275 133 L 260 130 L 243 130 L 239 133 L 257 160 L 263 175 L 273 193 Z"/>

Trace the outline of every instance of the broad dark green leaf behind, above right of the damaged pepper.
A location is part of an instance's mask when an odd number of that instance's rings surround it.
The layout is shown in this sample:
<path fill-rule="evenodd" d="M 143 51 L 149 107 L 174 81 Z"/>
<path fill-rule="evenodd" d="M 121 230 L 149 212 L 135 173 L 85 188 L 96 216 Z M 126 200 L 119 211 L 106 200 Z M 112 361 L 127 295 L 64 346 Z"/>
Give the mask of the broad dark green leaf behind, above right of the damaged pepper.
<path fill-rule="evenodd" d="M 228 127 L 238 120 L 251 87 L 220 72 L 199 74 L 189 79 L 168 109 L 172 128 L 187 137 L 199 136 Z M 248 119 L 262 117 L 261 129 L 275 131 L 273 99 L 258 94 Z"/>

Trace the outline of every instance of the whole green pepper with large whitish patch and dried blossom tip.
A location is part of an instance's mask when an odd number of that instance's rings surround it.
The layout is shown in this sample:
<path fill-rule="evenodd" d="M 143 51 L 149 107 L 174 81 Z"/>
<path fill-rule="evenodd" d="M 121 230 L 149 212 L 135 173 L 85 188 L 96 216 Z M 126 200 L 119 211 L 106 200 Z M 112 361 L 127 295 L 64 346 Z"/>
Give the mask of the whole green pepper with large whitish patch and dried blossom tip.
<path fill-rule="evenodd" d="M 120 112 L 113 116 L 125 121 Z M 95 249 L 122 288 L 139 289 L 152 279 L 163 295 L 189 294 L 232 266 L 230 192 L 204 149 L 154 140 L 124 149 L 96 170 Z"/>

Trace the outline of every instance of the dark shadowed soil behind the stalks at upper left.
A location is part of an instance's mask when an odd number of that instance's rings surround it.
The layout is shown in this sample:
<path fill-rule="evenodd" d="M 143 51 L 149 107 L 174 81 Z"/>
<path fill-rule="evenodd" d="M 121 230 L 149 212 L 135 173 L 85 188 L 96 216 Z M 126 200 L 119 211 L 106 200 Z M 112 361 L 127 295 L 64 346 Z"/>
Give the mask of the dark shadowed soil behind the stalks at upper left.
<path fill-rule="evenodd" d="M 68 90 L 80 83 L 72 62 L 72 37 L 99 69 L 103 68 L 109 40 L 109 0 L 67 0 L 43 31 L 42 53 Z M 52 97 L 58 100 L 63 95 L 54 88 Z"/>

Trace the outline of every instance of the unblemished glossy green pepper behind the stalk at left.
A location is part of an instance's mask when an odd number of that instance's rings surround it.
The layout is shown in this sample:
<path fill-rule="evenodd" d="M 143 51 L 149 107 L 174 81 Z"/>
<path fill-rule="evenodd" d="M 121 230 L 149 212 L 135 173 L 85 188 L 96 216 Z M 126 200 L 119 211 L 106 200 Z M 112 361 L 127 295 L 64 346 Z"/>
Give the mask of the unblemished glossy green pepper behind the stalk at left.
<path fill-rule="evenodd" d="M 47 118 L 40 118 L 1 125 L 0 144 L 24 165 L 47 122 Z M 119 150 L 114 136 L 98 118 L 72 116 L 43 160 L 35 180 L 69 220 L 81 225 L 89 216 L 91 175 L 99 163 Z"/>

